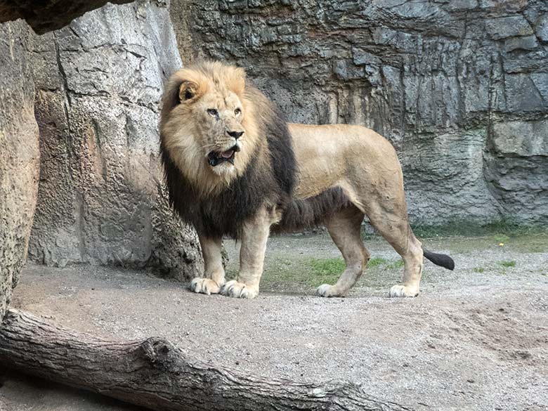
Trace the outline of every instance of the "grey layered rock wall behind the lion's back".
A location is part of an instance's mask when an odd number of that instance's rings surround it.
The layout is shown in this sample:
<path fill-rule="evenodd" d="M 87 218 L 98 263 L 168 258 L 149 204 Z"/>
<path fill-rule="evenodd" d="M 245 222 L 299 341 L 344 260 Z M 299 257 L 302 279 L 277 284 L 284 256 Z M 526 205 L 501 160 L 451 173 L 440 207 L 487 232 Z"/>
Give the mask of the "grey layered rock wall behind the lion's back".
<path fill-rule="evenodd" d="M 246 67 L 293 122 L 389 138 L 415 223 L 548 223 L 546 1 L 195 0 L 171 17 L 185 63 Z"/>

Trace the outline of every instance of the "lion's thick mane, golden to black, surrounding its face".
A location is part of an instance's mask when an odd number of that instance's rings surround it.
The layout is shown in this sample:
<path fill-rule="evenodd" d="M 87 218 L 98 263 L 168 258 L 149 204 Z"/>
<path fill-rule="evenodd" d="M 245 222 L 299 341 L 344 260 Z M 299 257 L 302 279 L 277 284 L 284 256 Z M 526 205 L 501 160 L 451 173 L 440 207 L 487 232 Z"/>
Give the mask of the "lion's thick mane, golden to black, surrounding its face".
<path fill-rule="evenodd" d="M 185 70 L 195 70 L 217 81 L 231 81 L 230 72 L 219 72 L 227 70 L 227 67 L 216 63 L 200 63 Z M 209 180 L 195 183 L 185 178 L 165 143 L 167 131 L 163 124 L 181 103 L 178 93 L 183 81 L 181 76 L 172 76 L 162 100 L 160 152 L 169 202 L 183 221 L 192 223 L 204 235 L 229 235 L 237 239 L 241 236 L 244 221 L 252 217 L 261 206 L 266 204 L 267 207 L 276 207 L 283 212 L 291 202 L 296 160 L 287 122 L 261 91 L 246 84 L 240 99 L 252 105 L 252 110 L 248 110 L 247 122 L 250 129 L 256 130 L 258 142 L 240 176 L 221 190 L 204 190 L 204 187 L 197 185 L 208 184 Z M 190 121 L 195 119 L 191 118 Z M 203 193 L 209 194 L 204 197 Z"/>

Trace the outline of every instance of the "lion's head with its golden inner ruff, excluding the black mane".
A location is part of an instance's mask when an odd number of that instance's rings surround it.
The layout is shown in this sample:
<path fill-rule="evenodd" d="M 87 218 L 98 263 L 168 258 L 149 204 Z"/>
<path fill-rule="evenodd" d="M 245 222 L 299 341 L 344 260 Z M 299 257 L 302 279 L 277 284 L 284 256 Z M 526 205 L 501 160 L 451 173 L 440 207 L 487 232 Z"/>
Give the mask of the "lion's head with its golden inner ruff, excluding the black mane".
<path fill-rule="evenodd" d="M 245 72 L 217 62 L 171 76 L 162 105 L 162 145 L 204 194 L 241 176 L 258 143 Z"/>

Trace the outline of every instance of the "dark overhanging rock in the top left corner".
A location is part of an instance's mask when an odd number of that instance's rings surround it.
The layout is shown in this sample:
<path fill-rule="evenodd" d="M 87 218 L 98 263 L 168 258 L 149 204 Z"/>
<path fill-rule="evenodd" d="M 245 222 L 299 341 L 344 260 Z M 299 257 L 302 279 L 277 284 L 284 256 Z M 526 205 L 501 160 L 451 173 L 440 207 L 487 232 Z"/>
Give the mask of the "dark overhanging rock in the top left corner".
<path fill-rule="evenodd" d="M 131 0 L 110 0 L 129 3 Z M 38 34 L 60 29 L 74 18 L 103 6 L 105 0 L 0 0 L 0 22 L 25 19 Z"/>

